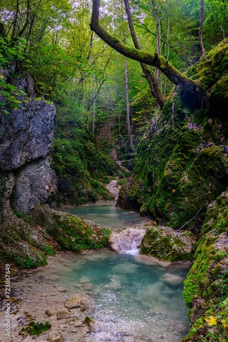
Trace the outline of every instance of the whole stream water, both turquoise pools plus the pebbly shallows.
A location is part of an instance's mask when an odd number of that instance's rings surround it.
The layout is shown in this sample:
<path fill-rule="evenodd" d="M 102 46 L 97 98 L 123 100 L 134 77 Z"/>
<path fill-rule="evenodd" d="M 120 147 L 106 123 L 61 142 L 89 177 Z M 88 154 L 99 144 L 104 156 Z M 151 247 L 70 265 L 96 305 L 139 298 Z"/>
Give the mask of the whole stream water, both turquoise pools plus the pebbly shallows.
<path fill-rule="evenodd" d="M 115 208 L 115 202 L 62 210 L 113 231 L 149 223 L 139 213 Z M 19 302 L 14 306 L 8 341 L 34 340 L 18 335 L 30 315 L 36 321 L 51 322 L 50 330 L 35 337 L 38 342 L 178 342 L 189 328 L 182 298 L 189 268 L 188 263 L 170 265 L 140 255 L 135 246 L 123 254 L 108 248 L 81 254 L 59 252 L 48 257 L 47 266 L 25 269 L 12 278 L 13 295 Z M 66 310 L 66 300 L 77 293 L 89 295 L 92 304 L 85 312 L 75 309 L 76 321 L 58 319 L 58 313 Z M 53 311 L 51 317 L 47 309 Z M 87 315 L 95 321 L 90 332 L 84 323 Z M 0 331 L 0 341 L 5 342 L 3 336 Z"/>

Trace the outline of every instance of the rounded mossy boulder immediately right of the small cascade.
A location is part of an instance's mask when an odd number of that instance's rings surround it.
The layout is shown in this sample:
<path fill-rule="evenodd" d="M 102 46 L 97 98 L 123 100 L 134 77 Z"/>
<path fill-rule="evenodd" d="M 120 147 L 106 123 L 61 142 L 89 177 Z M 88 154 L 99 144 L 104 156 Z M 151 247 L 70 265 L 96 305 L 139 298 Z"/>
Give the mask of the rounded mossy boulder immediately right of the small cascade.
<path fill-rule="evenodd" d="M 143 237 L 140 253 L 162 261 L 189 261 L 193 259 L 195 243 L 195 237 L 189 232 L 153 226 Z"/>

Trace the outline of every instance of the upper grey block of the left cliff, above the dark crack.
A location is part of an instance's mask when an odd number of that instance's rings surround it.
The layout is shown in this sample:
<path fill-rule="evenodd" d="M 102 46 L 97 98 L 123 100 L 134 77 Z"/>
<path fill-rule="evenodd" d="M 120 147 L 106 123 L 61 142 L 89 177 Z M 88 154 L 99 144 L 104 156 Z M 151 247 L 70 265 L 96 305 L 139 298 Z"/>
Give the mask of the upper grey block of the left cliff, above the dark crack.
<path fill-rule="evenodd" d="M 1 118 L 0 168 L 10 171 L 28 161 L 46 158 L 53 144 L 55 106 L 45 101 L 25 103 Z"/>

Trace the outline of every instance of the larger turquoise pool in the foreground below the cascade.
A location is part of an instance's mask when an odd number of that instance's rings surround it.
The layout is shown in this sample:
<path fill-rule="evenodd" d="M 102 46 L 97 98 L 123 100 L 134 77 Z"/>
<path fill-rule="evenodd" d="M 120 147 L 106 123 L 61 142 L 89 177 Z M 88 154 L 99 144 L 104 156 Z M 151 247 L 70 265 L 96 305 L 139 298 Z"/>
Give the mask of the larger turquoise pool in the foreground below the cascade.
<path fill-rule="evenodd" d="M 77 256 L 58 275 L 63 287 L 95 300 L 89 315 L 96 326 L 85 341 L 175 342 L 189 325 L 182 298 L 187 272 L 151 265 L 141 256 L 90 251 Z M 167 282 L 170 277 L 175 285 Z"/>

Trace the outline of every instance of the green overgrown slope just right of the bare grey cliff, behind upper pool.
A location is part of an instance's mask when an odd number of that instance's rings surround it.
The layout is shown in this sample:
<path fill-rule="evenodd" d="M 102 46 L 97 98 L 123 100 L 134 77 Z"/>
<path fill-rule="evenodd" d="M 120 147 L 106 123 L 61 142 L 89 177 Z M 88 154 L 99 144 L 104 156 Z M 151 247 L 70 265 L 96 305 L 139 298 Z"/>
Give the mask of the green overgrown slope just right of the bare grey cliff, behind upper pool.
<path fill-rule="evenodd" d="M 96 136 L 82 127 L 75 114 L 57 107 L 52 166 L 57 172 L 57 202 L 82 205 L 98 200 L 113 200 L 105 181 L 124 176 L 111 159 L 111 148 L 100 146 Z"/>

